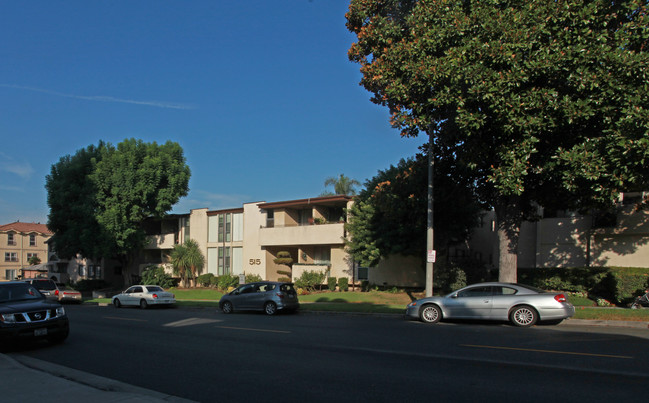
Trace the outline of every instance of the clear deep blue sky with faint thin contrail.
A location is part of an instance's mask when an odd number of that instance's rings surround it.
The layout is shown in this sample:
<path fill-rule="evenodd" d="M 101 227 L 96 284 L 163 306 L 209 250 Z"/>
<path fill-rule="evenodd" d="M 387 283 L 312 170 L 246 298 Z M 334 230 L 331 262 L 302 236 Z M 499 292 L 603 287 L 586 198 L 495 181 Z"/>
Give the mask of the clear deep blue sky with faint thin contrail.
<path fill-rule="evenodd" d="M 417 152 L 347 59 L 348 0 L 0 3 L 0 224 L 46 222 L 45 176 L 104 140 L 178 142 L 174 208 L 225 209 L 364 183 Z"/>

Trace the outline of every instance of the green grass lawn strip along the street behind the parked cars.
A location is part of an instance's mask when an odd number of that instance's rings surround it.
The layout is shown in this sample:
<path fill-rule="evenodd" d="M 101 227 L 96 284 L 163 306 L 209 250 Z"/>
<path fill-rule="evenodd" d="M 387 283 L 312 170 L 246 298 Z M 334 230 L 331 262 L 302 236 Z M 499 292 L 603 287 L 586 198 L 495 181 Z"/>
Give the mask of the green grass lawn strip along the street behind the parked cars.
<path fill-rule="evenodd" d="M 173 288 L 177 305 L 181 307 L 218 307 L 223 293 L 208 288 Z M 403 314 L 406 305 L 422 293 L 349 291 L 349 292 L 316 292 L 300 295 L 300 310 L 319 312 L 349 313 L 387 313 Z M 593 301 L 587 298 L 570 297 L 575 305 L 575 319 L 591 320 L 631 320 L 649 322 L 649 309 L 596 308 Z M 86 302 L 110 303 L 110 298 L 98 298 Z"/>

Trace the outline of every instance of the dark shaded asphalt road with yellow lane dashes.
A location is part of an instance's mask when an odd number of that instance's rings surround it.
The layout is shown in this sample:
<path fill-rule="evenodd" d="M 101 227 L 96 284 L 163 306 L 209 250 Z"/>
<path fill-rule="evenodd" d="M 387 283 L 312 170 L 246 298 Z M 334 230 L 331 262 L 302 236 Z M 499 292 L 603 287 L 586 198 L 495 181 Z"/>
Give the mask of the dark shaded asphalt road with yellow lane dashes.
<path fill-rule="evenodd" d="M 646 329 L 67 308 L 65 343 L 9 355 L 200 402 L 610 402 L 649 385 Z"/>

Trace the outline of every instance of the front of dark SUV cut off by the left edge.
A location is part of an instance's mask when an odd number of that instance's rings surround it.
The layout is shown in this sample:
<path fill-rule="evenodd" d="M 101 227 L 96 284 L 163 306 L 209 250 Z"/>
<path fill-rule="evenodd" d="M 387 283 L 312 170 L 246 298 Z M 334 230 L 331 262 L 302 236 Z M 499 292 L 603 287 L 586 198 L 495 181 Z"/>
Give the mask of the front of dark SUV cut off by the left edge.
<path fill-rule="evenodd" d="M 65 308 L 24 281 L 0 283 L 0 339 L 62 342 L 70 333 Z"/>

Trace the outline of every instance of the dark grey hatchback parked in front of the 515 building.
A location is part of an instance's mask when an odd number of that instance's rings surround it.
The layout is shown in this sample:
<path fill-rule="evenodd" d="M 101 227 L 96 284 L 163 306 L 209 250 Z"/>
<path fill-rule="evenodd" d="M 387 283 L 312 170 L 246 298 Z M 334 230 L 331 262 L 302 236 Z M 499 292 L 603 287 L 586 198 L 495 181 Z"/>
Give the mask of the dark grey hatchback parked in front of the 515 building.
<path fill-rule="evenodd" d="M 241 310 L 274 315 L 281 310 L 296 311 L 300 303 L 293 284 L 261 281 L 244 284 L 225 294 L 219 301 L 219 307 L 223 313 Z"/>

